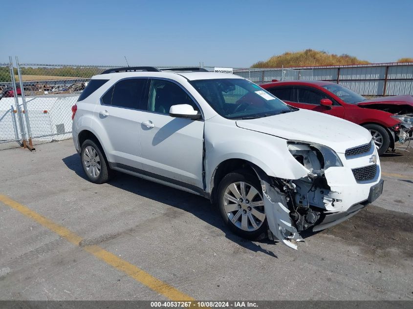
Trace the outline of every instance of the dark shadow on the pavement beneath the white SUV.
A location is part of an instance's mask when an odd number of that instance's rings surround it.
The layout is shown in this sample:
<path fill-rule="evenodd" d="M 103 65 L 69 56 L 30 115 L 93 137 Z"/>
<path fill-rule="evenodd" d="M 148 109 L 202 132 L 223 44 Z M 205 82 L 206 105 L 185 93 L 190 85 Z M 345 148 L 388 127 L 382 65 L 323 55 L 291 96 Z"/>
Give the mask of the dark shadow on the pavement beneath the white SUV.
<path fill-rule="evenodd" d="M 78 154 L 73 154 L 71 156 L 65 157 L 62 159 L 62 161 L 78 176 L 87 180 Z M 186 212 L 192 213 L 194 216 L 203 220 L 207 224 L 222 230 L 225 233 L 225 237 L 227 239 L 238 244 L 239 246 L 254 252 L 262 252 L 269 256 L 278 258 L 277 255 L 274 254 L 274 252 L 261 247 L 261 244 L 278 244 L 277 241 L 271 241 L 268 238 L 257 241 L 250 241 L 238 237 L 224 225 L 219 216 L 217 207 L 215 205 L 211 205 L 209 200 L 203 197 L 120 172 L 118 172 L 116 177 L 113 180 L 109 181 L 108 184 L 119 189 L 129 191 L 133 194 L 151 199 L 153 201 L 157 201 L 159 203 L 173 206 Z"/>

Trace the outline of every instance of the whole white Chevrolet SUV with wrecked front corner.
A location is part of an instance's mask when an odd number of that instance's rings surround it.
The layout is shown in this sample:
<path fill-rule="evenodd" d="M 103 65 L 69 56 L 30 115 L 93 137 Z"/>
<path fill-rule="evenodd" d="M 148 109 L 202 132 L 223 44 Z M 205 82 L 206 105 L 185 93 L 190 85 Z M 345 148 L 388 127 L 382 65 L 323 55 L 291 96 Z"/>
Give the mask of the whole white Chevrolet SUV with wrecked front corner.
<path fill-rule="evenodd" d="M 368 130 L 236 75 L 112 69 L 90 80 L 72 111 L 91 182 L 121 171 L 202 195 L 249 239 L 268 232 L 297 248 L 300 231 L 336 225 L 382 193 Z"/>

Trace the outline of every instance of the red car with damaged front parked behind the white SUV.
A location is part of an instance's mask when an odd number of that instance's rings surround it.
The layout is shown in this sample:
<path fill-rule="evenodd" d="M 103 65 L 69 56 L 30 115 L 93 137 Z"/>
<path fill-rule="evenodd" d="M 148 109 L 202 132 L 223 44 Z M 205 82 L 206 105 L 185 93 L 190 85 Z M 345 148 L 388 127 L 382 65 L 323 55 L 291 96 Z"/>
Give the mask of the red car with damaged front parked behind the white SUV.
<path fill-rule="evenodd" d="M 367 100 L 333 82 L 289 81 L 260 85 L 295 107 L 311 109 L 360 124 L 368 129 L 383 154 L 395 142 L 412 135 L 413 96 L 391 96 Z"/>

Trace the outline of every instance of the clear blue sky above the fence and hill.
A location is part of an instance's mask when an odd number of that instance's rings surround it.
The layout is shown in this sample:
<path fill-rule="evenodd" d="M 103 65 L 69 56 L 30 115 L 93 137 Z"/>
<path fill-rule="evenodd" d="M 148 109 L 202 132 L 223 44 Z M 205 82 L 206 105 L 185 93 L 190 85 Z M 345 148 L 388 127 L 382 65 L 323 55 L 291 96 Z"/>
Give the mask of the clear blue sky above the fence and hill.
<path fill-rule="evenodd" d="M 413 57 L 412 0 L 3 0 L 0 10 L 0 62 L 242 67 L 306 48 Z"/>

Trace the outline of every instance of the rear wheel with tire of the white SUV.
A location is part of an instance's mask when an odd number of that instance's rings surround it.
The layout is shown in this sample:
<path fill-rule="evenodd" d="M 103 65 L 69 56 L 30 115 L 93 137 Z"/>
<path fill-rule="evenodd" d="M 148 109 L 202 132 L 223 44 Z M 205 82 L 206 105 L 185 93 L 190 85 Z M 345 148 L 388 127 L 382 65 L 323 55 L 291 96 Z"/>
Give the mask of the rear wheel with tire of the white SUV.
<path fill-rule="evenodd" d="M 87 179 L 94 184 L 106 183 L 113 176 L 102 147 L 94 141 L 83 142 L 80 160 Z"/>

